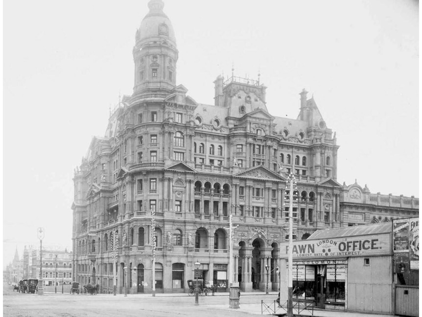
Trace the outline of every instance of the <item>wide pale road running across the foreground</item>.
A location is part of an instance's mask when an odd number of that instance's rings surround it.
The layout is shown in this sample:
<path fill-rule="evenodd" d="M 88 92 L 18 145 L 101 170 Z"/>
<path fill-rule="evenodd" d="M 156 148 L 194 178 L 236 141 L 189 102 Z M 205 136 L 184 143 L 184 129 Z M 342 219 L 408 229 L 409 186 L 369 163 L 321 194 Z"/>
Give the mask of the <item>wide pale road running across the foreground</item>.
<path fill-rule="evenodd" d="M 241 295 L 240 309 L 229 309 L 228 293 L 216 296 L 200 296 L 199 305 L 187 294 L 110 294 L 70 295 L 46 293 L 13 293 L 11 287 L 3 287 L 3 316 L 5 317 L 241 317 L 261 316 L 261 300 L 271 303 L 276 293 L 246 293 Z M 306 312 L 303 315 L 306 314 Z M 368 315 L 315 311 L 319 317 L 391 317 L 391 315 Z"/>

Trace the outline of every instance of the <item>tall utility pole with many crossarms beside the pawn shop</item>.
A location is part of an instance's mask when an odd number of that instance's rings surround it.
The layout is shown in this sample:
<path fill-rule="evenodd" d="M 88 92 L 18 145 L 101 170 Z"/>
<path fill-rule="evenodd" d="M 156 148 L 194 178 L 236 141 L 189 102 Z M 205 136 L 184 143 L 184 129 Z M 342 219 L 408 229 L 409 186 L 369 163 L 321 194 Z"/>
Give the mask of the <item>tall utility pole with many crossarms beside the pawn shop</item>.
<path fill-rule="evenodd" d="M 294 190 L 293 190 L 294 188 Z M 296 178 L 290 173 L 286 180 L 284 200 L 289 201 L 289 252 L 287 268 L 287 316 L 293 317 L 293 199 L 298 201 L 298 189 Z M 294 197 L 293 197 L 294 196 Z M 295 217 L 297 219 L 297 215 Z"/>

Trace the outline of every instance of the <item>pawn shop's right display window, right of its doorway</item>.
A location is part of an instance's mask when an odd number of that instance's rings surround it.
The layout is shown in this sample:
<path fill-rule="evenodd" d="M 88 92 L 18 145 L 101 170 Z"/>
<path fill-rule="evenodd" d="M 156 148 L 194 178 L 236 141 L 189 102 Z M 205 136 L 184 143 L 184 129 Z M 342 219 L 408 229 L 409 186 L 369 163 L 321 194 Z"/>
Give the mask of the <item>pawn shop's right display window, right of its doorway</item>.
<path fill-rule="evenodd" d="M 344 303 L 346 301 L 346 266 L 344 264 L 327 265 L 327 301 Z"/>

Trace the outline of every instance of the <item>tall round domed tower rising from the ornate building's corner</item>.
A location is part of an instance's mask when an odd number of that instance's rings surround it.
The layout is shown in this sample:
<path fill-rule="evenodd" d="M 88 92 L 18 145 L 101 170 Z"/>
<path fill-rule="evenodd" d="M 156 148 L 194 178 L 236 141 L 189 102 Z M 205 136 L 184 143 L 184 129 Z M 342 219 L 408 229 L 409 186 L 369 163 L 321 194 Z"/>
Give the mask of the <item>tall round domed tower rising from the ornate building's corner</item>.
<path fill-rule="evenodd" d="M 134 95 L 168 93 L 176 87 L 178 50 L 173 26 L 162 0 L 148 2 L 149 13 L 136 32 Z"/>

